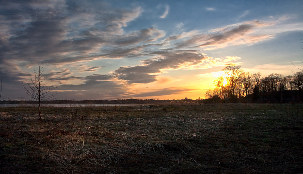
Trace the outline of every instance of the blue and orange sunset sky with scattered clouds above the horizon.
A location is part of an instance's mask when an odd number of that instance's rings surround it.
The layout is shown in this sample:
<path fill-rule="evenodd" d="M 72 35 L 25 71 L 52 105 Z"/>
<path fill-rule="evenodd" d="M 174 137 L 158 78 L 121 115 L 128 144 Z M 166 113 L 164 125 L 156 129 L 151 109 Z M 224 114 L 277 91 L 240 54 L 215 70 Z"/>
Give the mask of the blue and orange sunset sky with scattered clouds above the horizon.
<path fill-rule="evenodd" d="M 303 1 L 0 0 L 1 100 L 29 100 L 43 66 L 56 100 L 205 98 L 229 63 L 303 67 Z"/>

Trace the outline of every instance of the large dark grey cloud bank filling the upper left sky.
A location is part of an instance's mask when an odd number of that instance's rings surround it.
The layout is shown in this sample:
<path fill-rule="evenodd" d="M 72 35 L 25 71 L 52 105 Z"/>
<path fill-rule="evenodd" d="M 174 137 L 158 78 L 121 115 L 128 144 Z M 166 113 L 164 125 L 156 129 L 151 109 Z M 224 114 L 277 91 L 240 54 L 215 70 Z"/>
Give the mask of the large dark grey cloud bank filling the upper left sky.
<path fill-rule="evenodd" d="M 152 29 L 138 31 L 135 38 L 125 35 L 122 27 L 141 12 L 140 7 L 115 10 L 103 2 L 2 1 L 0 57 L 28 65 L 37 60 L 43 64 L 94 60 L 105 45 L 150 42 L 161 36 Z"/>

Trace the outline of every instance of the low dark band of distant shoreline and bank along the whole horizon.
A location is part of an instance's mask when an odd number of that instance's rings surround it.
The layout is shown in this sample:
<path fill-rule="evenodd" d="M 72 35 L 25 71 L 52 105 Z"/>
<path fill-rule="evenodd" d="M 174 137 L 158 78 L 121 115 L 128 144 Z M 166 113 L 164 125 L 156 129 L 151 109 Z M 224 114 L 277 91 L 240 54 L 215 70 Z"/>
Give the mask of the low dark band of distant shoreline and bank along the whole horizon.
<path fill-rule="evenodd" d="M 49 100 L 41 101 L 42 104 L 142 104 L 142 105 L 174 105 L 174 104 L 212 104 L 222 103 L 222 99 L 215 95 L 212 98 L 206 99 L 190 99 L 183 98 L 178 100 L 156 100 L 156 99 L 118 99 L 118 100 Z M 302 103 L 303 91 L 302 90 L 283 90 L 271 92 L 255 92 L 245 97 L 239 97 L 236 101 L 229 101 L 228 98 L 223 103 L 238 102 L 238 103 Z M 36 104 L 37 101 L 32 100 L 5 100 L 0 101 L 0 104 Z"/>

